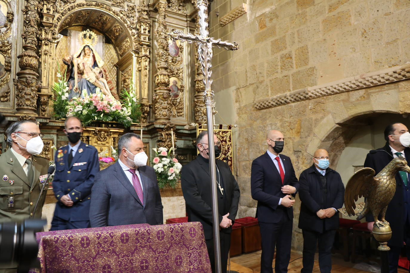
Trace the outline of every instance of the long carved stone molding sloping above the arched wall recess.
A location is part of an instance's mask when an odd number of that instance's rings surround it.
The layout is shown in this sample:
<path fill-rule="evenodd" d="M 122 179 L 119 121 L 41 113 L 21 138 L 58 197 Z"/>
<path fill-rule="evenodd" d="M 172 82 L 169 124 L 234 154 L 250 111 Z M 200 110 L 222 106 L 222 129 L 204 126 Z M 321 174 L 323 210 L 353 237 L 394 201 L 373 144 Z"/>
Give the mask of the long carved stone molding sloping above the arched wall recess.
<path fill-rule="evenodd" d="M 387 68 L 377 72 L 361 74 L 320 86 L 312 86 L 305 89 L 296 90 L 287 94 L 271 97 L 269 99 L 262 99 L 255 102 L 253 106 L 257 110 L 262 110 L 293 102 L 300 102 L 306 99 L 314 99 L 317 97 L 333 95 L 371 86 L 378 86 L 405 79 L 410 79 L 410 65 L 408 64 Z"/>

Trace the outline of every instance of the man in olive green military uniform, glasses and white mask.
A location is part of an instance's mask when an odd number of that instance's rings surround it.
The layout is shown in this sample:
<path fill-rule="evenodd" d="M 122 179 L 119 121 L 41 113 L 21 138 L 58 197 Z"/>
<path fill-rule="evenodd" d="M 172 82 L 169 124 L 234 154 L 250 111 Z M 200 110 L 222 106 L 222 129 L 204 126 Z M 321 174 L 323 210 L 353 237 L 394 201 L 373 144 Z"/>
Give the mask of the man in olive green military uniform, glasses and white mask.
<path fill-rule="evenodd" d="M 38 207 L 42 183 L 46 183 L 48 160 L 37 154 L 43 151 L 42 134 L 32 120 L 10 124 L 6 130 L 9 149 L 0 156 L 0 222 L 41 218 L 47 186 Z M 1 264 L 0 273 L 15 273 L 16 263 Z"/>

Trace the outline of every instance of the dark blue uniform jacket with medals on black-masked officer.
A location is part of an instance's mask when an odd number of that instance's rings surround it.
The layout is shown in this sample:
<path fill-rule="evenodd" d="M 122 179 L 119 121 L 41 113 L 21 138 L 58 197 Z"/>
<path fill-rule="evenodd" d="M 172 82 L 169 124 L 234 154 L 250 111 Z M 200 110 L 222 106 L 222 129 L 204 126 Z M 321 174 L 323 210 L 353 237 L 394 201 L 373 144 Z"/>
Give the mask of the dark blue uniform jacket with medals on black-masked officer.
<path fill-rule="evenodd" d="M 58 201 L 54 215 L 66 221 L 89 221 L 91 188 L 94 176 L 100 171 L 97 149 L 81 142 L 68 165 L 68 145 L 55 153 L 55 175 L 52 182 L 57 200 L 69 194 L 74 205 L 66 207 Z"/>

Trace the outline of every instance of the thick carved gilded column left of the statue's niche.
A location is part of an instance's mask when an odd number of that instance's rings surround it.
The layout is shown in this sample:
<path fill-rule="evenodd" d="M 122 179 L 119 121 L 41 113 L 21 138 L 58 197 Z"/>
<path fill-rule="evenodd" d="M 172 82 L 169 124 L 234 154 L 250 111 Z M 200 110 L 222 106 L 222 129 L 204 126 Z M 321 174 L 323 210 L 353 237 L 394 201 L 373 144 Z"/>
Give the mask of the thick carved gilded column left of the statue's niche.
<path fill-rule="evenodd" d="M 37 116 L 37 91 L 41 88 L 39 74 L 39 56 L 36 54 L 37 35 L 39 35 L 40 17 L 38 9 L 41 5 L 37 0 L 27 0 L 23 9 L 23 52 L 17 56 L 20 71 L 16 73 L 16 110 L 21 119 L 34 119 Z"/>

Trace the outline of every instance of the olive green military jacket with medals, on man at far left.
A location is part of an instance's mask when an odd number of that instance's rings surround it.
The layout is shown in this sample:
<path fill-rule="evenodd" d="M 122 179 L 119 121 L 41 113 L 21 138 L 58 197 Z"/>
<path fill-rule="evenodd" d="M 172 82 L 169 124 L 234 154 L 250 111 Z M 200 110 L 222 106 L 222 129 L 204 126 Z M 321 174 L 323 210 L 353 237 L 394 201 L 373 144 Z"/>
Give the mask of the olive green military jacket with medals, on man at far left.
<path fill-rule="evenodd" d="M 29 183 L 23 167 L 9 148 L 0 155 L 0 223 L 9 221 L 23 221 L 32 216 L 34 206 L 39 198 L 41 187 L 40 176 L 47 175 L 48 160 L 41 156 L 32 156 L 34 181 Z M 46 177 L 42 177 L 45 180 Z M 37 206 L 34 217 L 41 218 L 46 190 Z"/>

